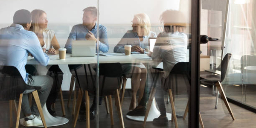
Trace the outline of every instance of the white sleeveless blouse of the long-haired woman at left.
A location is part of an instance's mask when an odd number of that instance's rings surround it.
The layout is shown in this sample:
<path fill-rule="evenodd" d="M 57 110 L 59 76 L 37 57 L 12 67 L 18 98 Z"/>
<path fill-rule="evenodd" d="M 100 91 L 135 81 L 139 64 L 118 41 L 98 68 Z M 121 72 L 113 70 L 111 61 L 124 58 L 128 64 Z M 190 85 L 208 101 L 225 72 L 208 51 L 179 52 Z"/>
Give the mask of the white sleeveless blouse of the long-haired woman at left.
<path fill-rule="evenodd" d="M 53 30 L 44 29 L 43 35 L 44 35 L 44 46 L 42 48 L 49 50 L 49 48 L 52 47 L 52 38 L 54 37 L 55 32 Z"/>

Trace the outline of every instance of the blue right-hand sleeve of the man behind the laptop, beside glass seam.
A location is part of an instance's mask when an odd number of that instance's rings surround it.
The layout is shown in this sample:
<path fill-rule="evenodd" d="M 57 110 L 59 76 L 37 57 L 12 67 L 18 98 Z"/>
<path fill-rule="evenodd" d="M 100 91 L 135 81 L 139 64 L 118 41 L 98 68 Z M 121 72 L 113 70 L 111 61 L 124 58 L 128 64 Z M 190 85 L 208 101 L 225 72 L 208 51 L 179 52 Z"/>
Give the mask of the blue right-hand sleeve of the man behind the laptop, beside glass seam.
<path fill-rule="evenodd" d="M 102 29 L 102 34 L 99 37 L 99 50 L 102 52 L 108 52 L 109 45 L 108 45 L 108 33 L 107 33 L 107 28 L 104 27 Z"/>

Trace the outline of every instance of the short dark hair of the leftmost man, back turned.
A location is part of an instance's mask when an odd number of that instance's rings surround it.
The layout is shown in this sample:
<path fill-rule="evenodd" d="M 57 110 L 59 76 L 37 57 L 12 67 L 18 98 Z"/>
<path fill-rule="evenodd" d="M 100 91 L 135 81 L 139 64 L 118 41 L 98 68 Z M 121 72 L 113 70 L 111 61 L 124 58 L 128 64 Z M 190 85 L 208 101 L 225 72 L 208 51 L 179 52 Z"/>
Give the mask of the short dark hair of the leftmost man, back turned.
<path fill-rule="evenodd" d="M 26 9 L 20 9 L 15 12 L 13 16 L 13 23 L 20 24 L 23 27 L 26 27 L 27 23 L 31 23 L 32 16 L 30 12 Z"/>

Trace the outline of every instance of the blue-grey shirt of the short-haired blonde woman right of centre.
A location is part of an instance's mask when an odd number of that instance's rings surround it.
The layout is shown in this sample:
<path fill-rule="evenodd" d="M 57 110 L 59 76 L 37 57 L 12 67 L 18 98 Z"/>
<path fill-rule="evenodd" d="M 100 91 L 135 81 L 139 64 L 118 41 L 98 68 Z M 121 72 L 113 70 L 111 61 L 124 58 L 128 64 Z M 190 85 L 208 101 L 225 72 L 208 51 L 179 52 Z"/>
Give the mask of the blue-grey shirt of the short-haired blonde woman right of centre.
<path fill-rule="evenodd" d="M 122 39 L 118 42 L 118 44 L 114 48 L 114 52 L 125 52 L 125 45 L 131 46 L 140 46 L 145 49 L 148 46 L 148 38 L 156 38 L 157 35 L 154 32 L 150 32 L 149 35 L 143 36 L 143 41 L 140 41 L 137 32 L 132 32 L 132 30 L 128 30 Z"/>

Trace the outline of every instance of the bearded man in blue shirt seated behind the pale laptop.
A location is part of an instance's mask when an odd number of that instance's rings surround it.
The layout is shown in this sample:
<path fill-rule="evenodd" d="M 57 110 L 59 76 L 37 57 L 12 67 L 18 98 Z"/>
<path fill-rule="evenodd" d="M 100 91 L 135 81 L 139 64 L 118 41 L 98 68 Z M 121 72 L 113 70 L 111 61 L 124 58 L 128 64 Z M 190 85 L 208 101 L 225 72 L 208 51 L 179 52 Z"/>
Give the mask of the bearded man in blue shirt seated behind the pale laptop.
<path fill-rule="evenodd" d="M 107 35 L 107 28 L 101 24 L 99 24 L 99 41 L 97 40 L 97 8 L 96 7 L 87 7 L 84 10 L 83 14 L 83 23 L 77 24 L 73 26 L 70 35 L 67 39 L 67 43 L 65 48 L 67 49 L 67 53 L 72 52 L 72 41 L 76 40 L 90 40 L 96 41 L 99 43 L 99 51 L 108 52 L 109 45 L 108 45 L 108 35 Z M 97 47 L 97 44 L 96 44 Z M 97 48 L 96 48 L 97 50 Z M 81 65 L 69 65 L 70 70 L 77 69 L 81 67 Z M 85 102 L 84 97 L 82 102 Z M 101 99 L 100 99 L 101 102 Z M 80 115 L 85 114 L 85 105 L 81 104 Z M 96 97 L 93 99 L 93 104 L 90 108 L 90 119 L 94 119 L 96 114 Z M 80 121 L 84 121 L 85 118 L 81 116 L 79 119 Z"/>

